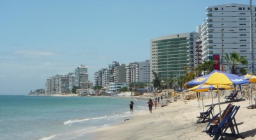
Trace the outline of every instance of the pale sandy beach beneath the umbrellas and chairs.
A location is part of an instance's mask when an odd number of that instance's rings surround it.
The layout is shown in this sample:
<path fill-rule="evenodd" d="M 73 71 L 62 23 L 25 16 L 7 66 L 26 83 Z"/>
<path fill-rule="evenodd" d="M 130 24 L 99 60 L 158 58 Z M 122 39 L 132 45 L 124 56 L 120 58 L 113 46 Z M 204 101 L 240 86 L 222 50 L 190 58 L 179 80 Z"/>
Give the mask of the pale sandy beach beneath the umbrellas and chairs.
<path fill-rule="evenodd" d="M 163 102 L 165 100 L 163 99 Z M 225 102 L 223 97 L 220 101 L 223 102 L 221 104 L 223 110 L 229 102 Z M 218 103 L 217 98 L 214 99 L 214 103 Z M 239 133 L 246 140 L 256 139 L 256 109 L 248 108 L 248 100 L 232 103 L 241 106 L 236 115 Z M 205 99 L 204 105 L 209 104 L 212 104 L 211 99 Z M 205 110 L 208 108 L 205 107 Z M 149 111 L 133 113 L 129 121 L 96 129 L 92 135 L 96 139 L 212 139 L 204 132 L 207 122 L 196 123 L 198 120 L 196 116 L 199 116 L 202 111 L 202 101 L 201 108 L 198 107 L 196 99 L 177 101 L 163 108 L 153 108 L 151 114 Z M 215 106 L 214 112 L 215 114 L 219 112 L 218 105 Z M 236 138 L 224 137 L 224 139 Z"/>

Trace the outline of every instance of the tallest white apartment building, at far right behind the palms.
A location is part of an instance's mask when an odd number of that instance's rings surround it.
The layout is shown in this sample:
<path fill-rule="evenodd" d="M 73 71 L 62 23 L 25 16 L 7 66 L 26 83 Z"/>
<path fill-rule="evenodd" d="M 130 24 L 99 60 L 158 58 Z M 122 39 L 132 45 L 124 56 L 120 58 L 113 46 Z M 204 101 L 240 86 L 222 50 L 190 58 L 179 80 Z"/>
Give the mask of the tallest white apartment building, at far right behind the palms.
<path fill-rule="evenodd" d="M 253 34 L 256 32 L 255 16 L 256 7 L 252 6 Z M 225 53 L 237 52 L 246 57 L 250 71 L 250 5 L 232 3 L 206 8 L 206 20 L 201 25 L 202 60 L 221 61 L 221 24 L 223 62 Z"/>

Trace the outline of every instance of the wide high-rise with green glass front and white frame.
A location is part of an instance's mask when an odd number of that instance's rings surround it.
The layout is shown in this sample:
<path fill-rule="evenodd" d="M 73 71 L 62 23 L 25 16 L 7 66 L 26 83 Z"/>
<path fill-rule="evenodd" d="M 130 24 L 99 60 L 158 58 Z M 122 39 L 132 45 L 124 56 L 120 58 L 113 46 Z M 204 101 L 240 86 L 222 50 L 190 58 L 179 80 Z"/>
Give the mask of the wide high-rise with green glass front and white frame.
<path fill-rule="evenodd" d="M 155 71 L 159 78 L 185 75 L 184 66 L 194 65 L 194 43 L 197 32 L 172 34 L 150 39 L 150 71 Z M 154 79 L 150 73 L 150 81 Z"/>

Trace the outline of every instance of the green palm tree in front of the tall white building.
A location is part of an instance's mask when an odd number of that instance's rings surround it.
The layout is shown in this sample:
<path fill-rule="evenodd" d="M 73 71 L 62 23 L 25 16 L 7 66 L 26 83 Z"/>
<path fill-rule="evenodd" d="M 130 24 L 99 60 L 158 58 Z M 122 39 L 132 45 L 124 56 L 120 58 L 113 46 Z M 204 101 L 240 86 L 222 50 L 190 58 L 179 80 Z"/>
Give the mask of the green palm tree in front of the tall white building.
<path fill-rule="evenodd" d="M 226 56 L 224 57 L 225 60 L 228 62 L 229 66 L 232 66 L 231 73 L 236 74 L 235 67 L 237 64 L 248 64 L 248 60 L 246 60 L 244 57 L 240 57 L 237 52 L 230 53 L 230 57 L 226 53 Z"/>

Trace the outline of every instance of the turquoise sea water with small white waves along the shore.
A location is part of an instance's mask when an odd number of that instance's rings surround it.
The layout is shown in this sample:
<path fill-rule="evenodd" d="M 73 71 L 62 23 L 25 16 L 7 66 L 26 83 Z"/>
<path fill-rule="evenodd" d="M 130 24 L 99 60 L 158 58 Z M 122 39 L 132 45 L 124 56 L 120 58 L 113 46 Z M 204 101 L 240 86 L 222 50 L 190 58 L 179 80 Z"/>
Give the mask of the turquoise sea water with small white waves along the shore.
<path fill-rule="evenodd" d="M 93 139 L 88 132 L 147 109 L 146 99 L 0 95 L 0 139 Z M 86 136 L 88 135 L 88 136 Z"/>

